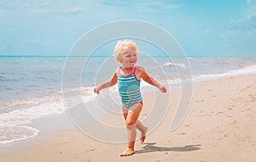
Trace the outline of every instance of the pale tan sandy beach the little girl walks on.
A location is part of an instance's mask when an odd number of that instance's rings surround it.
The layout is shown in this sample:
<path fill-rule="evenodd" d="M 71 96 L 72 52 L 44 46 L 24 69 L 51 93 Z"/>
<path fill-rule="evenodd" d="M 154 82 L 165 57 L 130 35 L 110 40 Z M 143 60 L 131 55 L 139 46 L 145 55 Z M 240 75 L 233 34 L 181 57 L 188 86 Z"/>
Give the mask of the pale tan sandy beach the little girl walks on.
<path fill-rule="evenodd" d="M 40 139 L 32 146 L 1 154 L 0 161 L 256 161 L 256 75 L 195 83 L 189 112 L 176 131 L 170 131 L 170 124 L 180 90 L 169 92 L 172 98 L 164 120 L 143 144 L 136 143 L 136 154 L 130 157 L 119 157 L 125 143 L 99 142 L 73 128 Z M 151 98 L 152 94 L 144 97 L 142 120 L 148 114 Z M 160 99 L 155 102 L 165 107 Z M 119 125 L 124 122 L 119 117 L 104 120 L 118 121 Z"/>

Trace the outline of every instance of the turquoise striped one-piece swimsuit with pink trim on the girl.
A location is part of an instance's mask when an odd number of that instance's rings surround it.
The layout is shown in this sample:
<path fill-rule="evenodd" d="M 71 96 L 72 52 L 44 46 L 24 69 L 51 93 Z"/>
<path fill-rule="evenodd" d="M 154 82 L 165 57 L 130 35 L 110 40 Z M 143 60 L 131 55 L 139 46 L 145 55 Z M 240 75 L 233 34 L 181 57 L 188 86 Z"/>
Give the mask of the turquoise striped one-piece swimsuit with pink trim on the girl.
<path fill-rule="evenodd" d="M 140 91 L 141 81 L 135 75 L 137 67 L 132 70 L 131 75 L 120 75 L 120 69 L 121 67 L 118 72 L 119 95 L 126 109 L 130 109 L 135 103 L 143 103 Z"/>

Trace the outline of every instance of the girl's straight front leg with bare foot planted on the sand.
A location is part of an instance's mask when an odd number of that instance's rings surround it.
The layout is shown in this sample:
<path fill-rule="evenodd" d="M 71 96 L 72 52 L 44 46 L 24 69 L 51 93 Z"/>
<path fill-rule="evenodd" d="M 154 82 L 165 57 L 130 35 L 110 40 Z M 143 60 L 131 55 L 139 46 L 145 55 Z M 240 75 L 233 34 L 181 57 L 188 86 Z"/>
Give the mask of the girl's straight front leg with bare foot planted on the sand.
<path fill-rule="evenodd" d="M 134 144 L 136 140 L 136 123 L 142 108 L 143 105 L 141 103 L 134 104 L 130 108 L 131 112 L 126 115 L 125 125 L 127 128 L 128 142 L 125 152 L 123 154 L 120 154 L 120 156 L 130 156 L 131 154 L 134 154 Z"/>

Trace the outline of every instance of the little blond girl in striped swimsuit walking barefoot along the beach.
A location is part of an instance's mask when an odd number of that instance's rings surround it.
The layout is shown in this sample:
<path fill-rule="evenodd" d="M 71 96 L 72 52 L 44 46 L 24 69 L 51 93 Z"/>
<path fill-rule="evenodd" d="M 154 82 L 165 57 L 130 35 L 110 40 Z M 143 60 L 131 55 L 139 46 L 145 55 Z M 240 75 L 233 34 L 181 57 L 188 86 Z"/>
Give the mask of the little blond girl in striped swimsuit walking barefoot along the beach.
<path fill-rule="evenodd" d="M 121 64 L 109 81 L 105 81 L 98 87 L 94 88 L 94 92 L 99 93 L 102 89 L 112 87 L 118 83 L 119 95 L 123 103 L 123 115 L 125 118 L 125 126 L 127 129 L 127 148 L 120 156 L 130 156 L 134 154 L 134 144 L 136 140 L 136 129 L 141 131 L 140 141 L 144 142 L 148 127 L 138 120 L 143 109 L 143 98 L 140 92 L 140 81 L 148 82 L 154 87 L 158 87 L 161 92 L 166 92 L 166 87 L 160 85 L 150 75 L 147 74 L 137 63 L 137 45 L 131 40 L 123 40 L 116 43 L 113 52 L 114 59 Z M 128 114 L 129 112 L 129 114 Z"/>

